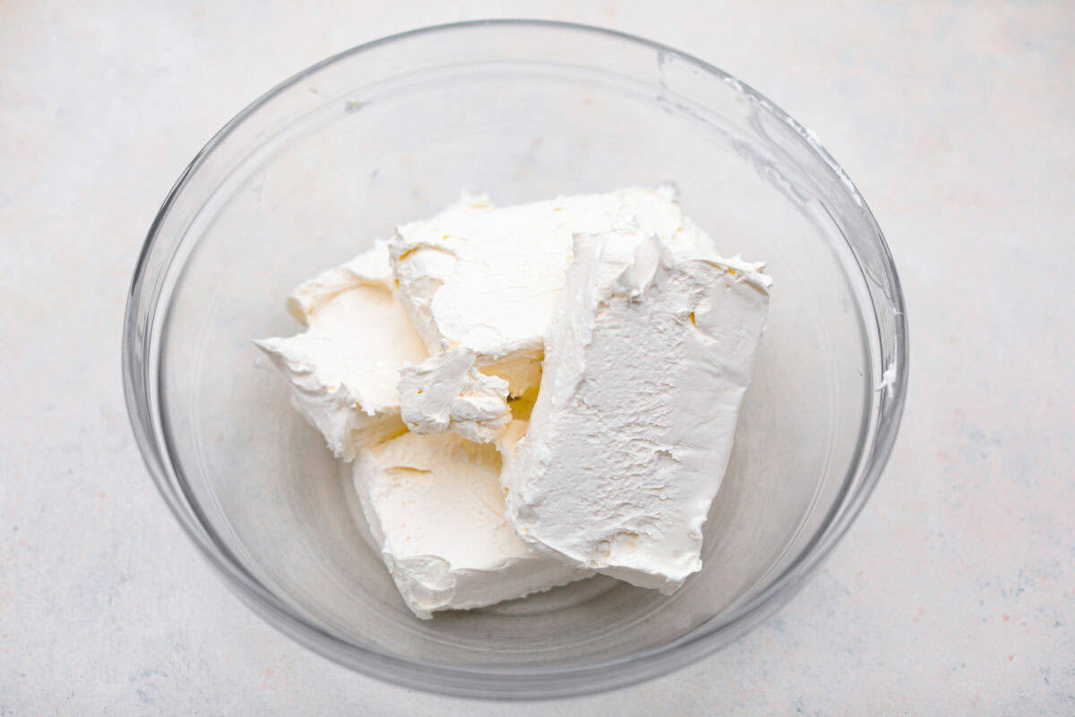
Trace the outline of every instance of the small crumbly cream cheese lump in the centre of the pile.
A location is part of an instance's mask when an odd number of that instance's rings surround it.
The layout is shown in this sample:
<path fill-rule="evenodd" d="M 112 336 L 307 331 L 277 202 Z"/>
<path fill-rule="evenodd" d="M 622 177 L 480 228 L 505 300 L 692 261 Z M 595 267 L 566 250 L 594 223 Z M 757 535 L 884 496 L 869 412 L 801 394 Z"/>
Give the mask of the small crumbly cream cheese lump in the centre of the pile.
<path fill-rule="evenodd" d="M 503 432 L 512 412 L 507 382 L 474 367 L 474 352 L 449 348 L 400 369 L 400 414 L 414 433 L 455 431 L 488 443 Z"/>

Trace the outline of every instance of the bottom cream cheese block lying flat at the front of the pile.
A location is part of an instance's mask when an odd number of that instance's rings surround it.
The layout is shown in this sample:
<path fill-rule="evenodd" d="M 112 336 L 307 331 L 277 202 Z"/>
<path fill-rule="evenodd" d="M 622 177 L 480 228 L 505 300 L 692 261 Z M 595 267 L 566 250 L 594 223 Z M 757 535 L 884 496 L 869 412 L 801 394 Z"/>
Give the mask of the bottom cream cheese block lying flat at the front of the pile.
<path fill-rule="evenodd" d="M 420 618 L 592 574 L 532 551 L 504 517 L 501 458 L 455 433 L 404 433 L 362 451 L 355 489 L 403 601 Z"/>

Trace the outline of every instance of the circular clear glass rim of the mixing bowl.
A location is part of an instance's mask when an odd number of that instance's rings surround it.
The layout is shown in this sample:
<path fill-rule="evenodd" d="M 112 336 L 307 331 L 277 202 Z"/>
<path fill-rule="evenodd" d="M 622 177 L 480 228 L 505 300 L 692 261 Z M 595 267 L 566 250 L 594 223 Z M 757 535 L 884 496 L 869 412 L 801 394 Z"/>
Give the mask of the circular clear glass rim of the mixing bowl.
<path fill-rule="evenodd" d="M 152 336 L 153 333 L 152 331 L 142 331 L 145 327 L 138 320 L 138 307 L 139 298 L 147 279 L 148 259 L 156 245 L 158 232 L 176 198 L 183 192 L 191 176 L 238 126 L 287 88 L 316 73 L 318 70 L 344 58 L 404 39 L 435 35 L 457 29 L 479 27 L 491 30 L 505 27 L 531 27 L 599 34 L 643 45 L 658 53 L 676 56 L 719 80 L 733 84 L 739 91 L 747 96 L 752 102 L 759 104 L 766 112 L 772 113 L 775 117 L 791 127 L 806 142 L 816 157 L 841 180 L 848 196 L 861 206 L 862 216 L 875 234 L 877 248 L 880 250 L 884 264 L 884 278 L 886 279 L 886 288 L 888 289 L 886 298 L 893 313 L 895 335 L 893 357 L 889 363 L 893 375 L 889 375 L 886 372 L 884 382 L 884 386 L 887 389 L 888 400 L 886 403 L 888 410 L 877 412 L 878 415 L 871 450 L 862 454 L 858 463 L 852 467 L 856 470 L 862 468 L 862 478 L 856 490 L 854 492 L 848 491 L 849 476 L 845 476 L 844 486 L 841 489 L 841 493 L 844 496 L 843 500 L 835 503 L 829 518 L 817 529 L 814 537 L 800 549 L 799 555 L 783 569 L 780 574 L 769 586 L 761 589 L 744 604 L 731 610 L 728 615 L 716 620 L 714 625 L 707 625 L 703 629 L 696 630 L 690 635 L 671 641 L 658 647 L 647 648 L 629 656 L 602 660 L 583 666 L 482 666 L 475 669 L 446 666 L 438 663 L 421 663 L 356 645 L 322 630 L 314 622 L 292 612 L 271 590 L 264 587 L 260 580 L 242 567 L 230 549 L 215 537 L 214 531 L 210 526 L 198 519 L 197 506 L 187 499 L 188 497 L 185 496 L 186 491 L 182 487 L 176 490 L 172 485 L 166 465 L 176 470 L 177 464 L 172 460 L 170 450 L 161 451 L 158 445 L 154 425 L 156 416 L 149 400 L 150 391 L 148 386 L 155 378 L 159 379 L 160 376 L 159 374 L 154 376 L 154 371 L 150 370 L 150 362 L 144 362 L 141 358 L 142 354 L 139 350 L 143 341 L 147 343 L 145 346 L 141 346 L 142 348 L 152 346 L 152 341 L 144 339 L 144 336 Z M 858 262 L 857 256 L 856 261 Z M 870 295 L 871 297 L 874 296 L 873 290 L 870 291 Z M 156 302 L 154 303 L 156 304 Z M 154 311 L 150 312 L 149 318 L 155 316 L 157 306 L 154 305 L 153 309 Z M 175 516 L 184 532 L 187 533 L 187 536 L 224 578 L 225 584 L 255 613 L 306 648 L 332 659 L 344 666 L 389 683 L 455 697 L 517 700 L 590 694 L 625 687 L 630 684 L 637 684 L 668 674 L 730 644 L 790 600 L 802 587 L 805 578 L 813 574 L 847 532 L 855 518 L 865 505 L 884 471 L 899 431 L 906 401 L 908 353 L 907 320 L 903 291 L 891 253 L 880 227 L 877 225 L 865 200 L 859 193 L 858 188 L 831 155 L 818 143 L 812 132 L 803 128 L 777 104 L 762 96 L 747 83 L 704 60 L 662 43 L 618 30 L 576 23 L 548 19 L 498 18 L 448 23 L 417 28 L 345 49 L 310 66 L 277 84 L 250 102 L 217 131 L 198 154 L 195 155 L 194 159 L 176 180 L 146 234 L 127 295 L 124 316 L 121 368 L 128 417 L 135 442 L 150 477 L 166 504 L 169 506 L 169 510 Z M 137 367 L 139 365 L 142 365 L 143 371 L 137 371 Z M 166 441 L 166 443 L 168 442 Z M 856 470 L 852 470 L 850 475 L 854 475 Z M 627 670 L 626 668 L 632 663 L 639 669 Z M 490 686 L 493 687 L 491 688 Z"/>

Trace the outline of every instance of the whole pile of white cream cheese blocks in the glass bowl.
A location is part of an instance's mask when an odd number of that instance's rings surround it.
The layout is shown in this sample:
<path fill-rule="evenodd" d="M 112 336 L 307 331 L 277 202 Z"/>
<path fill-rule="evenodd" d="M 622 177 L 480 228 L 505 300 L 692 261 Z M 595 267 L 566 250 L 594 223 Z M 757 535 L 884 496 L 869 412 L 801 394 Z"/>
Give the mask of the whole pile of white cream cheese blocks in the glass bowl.
<path fill-rule="evenodd" d="M 701 567 L 771 279 L 670 187 L 464 195 L 300 285 L 255 342 L 352 475 L 406 605 Z M 540 391 L 539 391 L 540 386 Z"/>

